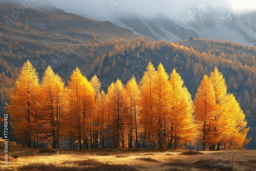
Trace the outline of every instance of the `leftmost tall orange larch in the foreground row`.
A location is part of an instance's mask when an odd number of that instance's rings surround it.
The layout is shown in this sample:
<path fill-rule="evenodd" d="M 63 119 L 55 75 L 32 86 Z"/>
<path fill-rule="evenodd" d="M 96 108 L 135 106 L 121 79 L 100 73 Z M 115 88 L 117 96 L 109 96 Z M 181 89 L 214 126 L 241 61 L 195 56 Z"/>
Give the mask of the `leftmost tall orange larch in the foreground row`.
<path fill-rule="evenodd" d="M 29 60 L 20 69 L 15 86 L 16 88 L 11 92 L 10 104 L 6 105 L 5 110 L 11 116 L 14 137 L 31 147 L 31 138 L 38 134 L 39 130 L 36 108 L 38 108 L 37 99 L 40 91 L 38 74 Z"/>

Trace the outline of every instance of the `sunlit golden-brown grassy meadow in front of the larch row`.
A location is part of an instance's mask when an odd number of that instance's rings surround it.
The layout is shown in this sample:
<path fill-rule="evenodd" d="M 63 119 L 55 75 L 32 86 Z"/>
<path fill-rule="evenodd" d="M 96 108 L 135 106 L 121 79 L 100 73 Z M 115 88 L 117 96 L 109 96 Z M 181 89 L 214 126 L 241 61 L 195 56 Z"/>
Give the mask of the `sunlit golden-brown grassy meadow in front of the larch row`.
<path fill-rule="evenodd" d="M 256 170 L 255 150 L 52 149 L 49 154 L 9 142 L 5 167 L 4 149 L 1 141 L 0 170 Z"/>

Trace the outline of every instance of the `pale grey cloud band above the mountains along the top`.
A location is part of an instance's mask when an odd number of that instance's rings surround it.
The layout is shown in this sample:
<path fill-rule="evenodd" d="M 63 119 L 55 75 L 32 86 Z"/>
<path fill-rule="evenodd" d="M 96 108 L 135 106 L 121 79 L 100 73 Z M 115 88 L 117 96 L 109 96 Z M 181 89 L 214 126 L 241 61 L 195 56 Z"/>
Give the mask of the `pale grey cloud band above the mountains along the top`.
<path fill-rule="evenodd" d="M 178 16 L 184 8 L 214 4 L 233 11 L 256 11 L 255 0 L 0 0 L 0 2 L 17 1 L 22 4 L 45 4 L 46 2 L 71 12 L 97 20 L 111 20 L 116 15 L 140 14 L 150 16 L 160 12 Z"/>

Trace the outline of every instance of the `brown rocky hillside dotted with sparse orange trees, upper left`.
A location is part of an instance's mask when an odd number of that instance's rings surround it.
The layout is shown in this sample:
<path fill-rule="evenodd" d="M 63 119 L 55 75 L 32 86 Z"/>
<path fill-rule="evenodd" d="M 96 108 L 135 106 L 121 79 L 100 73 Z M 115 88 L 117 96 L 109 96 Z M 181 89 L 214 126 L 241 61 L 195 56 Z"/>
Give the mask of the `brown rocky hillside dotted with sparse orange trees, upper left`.
<path fill-rule="evenodd" d="M 98 22 L 52 6 L 26 8 L 22 12 L 18 11 L 18 7 L 19 4 L 0 5 L 0 33 L 3 34 L 0 57 L 9 61 L 13 67 L 21 67 L 24 61 L 28 57 L 34 57 L 38 50 L 44 59 L 51 57 L 51 62 L 45 59 L 46 65 L 51 64 L 53 68 L 59 68 L 61 63 L 71 69 L 82 65 L 83 72 L 89 72 L 92 59 L 84 47 L 91 47 L 99 41 L 120 38 L 132 40 L 137 37 L 131 31 L 110 22 Z M 10 49 L 12 53 L 9 52 Z M 44 49 L 46 54 L 42 53 Z M 105 50 L 98 55 L 102 56 Z M 19 61 L 13 60 L 19 56 Z M 36 68 L 40 67 L 41 61 L 41 58 L 31 59 Z M 63 70 L 63 75 L 68 74 L 66 71 Z"/>

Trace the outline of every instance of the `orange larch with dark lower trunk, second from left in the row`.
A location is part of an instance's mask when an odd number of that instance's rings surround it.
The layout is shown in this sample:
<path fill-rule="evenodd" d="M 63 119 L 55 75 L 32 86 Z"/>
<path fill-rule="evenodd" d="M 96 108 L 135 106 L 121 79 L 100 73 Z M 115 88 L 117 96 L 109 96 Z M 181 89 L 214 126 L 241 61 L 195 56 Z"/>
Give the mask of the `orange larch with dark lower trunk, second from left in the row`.
<path fill-rule="evenodd" d="M 45 121 L 45 139 L 53 142 L 53 148 L 59 148 L 61 122 L 66 115 L 65 85 L 61 77 L 49 66 L 42 76 L 41 88 L 44 94 L 43 115 Z"/>

